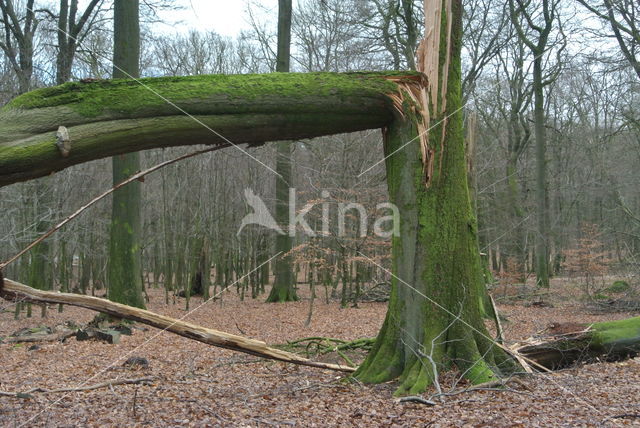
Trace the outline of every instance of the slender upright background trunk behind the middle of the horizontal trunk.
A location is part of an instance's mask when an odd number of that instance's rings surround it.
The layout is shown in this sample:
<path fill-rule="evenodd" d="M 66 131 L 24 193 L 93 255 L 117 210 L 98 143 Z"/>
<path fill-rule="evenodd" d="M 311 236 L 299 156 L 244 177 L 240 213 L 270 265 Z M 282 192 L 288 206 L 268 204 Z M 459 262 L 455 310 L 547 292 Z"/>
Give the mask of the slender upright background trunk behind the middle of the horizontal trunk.
<path fill-rule="evenodd" d="M 291 58 L 291 2 L 292 0 L 278 0 L 278 55 L 276 71 L 289 72 Z M 291 264 L 291 255 L 295 231 L 289 230 L 289 188 L 293 188 L 293 174 L 291 173 L 292 145 L 290 143 L 276 143 L 276 222 L 285 232 L 276 236 L 275 279 L 267 302 L 290 302 L 298 300 L 294 288 L 295 277 Z"/>

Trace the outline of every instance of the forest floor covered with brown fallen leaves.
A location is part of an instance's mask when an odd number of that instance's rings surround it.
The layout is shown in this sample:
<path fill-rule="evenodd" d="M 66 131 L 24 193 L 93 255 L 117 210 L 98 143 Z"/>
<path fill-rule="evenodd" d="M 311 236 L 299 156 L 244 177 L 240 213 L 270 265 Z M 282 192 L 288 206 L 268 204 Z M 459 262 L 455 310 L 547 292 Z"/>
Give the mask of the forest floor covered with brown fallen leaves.
<path fill-rule="evenodd" d="M 305 286 L 301 286 L 306 290 Z M 505 289 L 507 294 L 509 290 Z M 497 295 L 501 293 L 496 290 Z M 508 319 L 508 342 L 530 337 L 552 322 L 595 322 L 636 313 L 591 313 L 576 298 L 577 288 L 554 281 L 545 301 L 499 304 Z M 304 292 L 302 293 L 304 295 Z M 320 293 L 321 295 L 323 293 Z M 201 305 L 184 299 L 165 305 L 160 290 L 150 291 L 150 310 L 229 333 L 282 344 L 308 336 L 346 340 L 372 337 L 385 316 L 386 303 L 360 303 L 341 309 L 339 303 L 315 301 L 305 327 L 308 300 L 265 304 L 264 297 L 241 302 L 235 290 Z M 527 303 L 528 302 L 528 303 Z M 55 307 L 48 317 L 13 319 L 13 306 L 0 301 L 0 336 L 24 327 L 55 326 L 71 320 L 86 323 L 94 313 Z M 440 379 L 451 395 L 435 406 L 400 403 L 395 385 L 361 385 L 337 372 L 318 370 L 234 353 L 137 325 L 120 344 L 97 341 L 0 344 L 0 390 L 27 391 L 94 385 L 113 379 L 153 378 L 146 384 L 116 385 L 83 392 L 0 396 L 0 426 L 389 426 L 389 427 L 550 427 L 640 425 L 640 358 L 535 374 L 503 390 L 465 391 L 456 373 Z M 148 367 L 126 367 L 131 356 Z M 337 356 L 333 356 L 338 361 Z M 434 391 L 424 394 L 429 398 Z"/>

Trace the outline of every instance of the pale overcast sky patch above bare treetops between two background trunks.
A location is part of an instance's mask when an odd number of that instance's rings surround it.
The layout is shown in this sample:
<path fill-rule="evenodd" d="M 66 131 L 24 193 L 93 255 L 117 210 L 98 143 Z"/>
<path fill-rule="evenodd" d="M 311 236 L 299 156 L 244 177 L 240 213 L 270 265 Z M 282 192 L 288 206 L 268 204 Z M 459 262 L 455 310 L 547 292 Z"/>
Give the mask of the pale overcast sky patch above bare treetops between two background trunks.
<path fill-rule="evenodd" d="M 277 14 L 277 0 L 252 0 L 252 3 L 262 4 Z M 159 25 L 157 30 L 186 32 L 193 28 L 233 37 L 249 28 L 245 13 L 247 0 L 176 0 L 176 4 L 183 9 L 161 12 L 160 17 L 166 24 Z"/>

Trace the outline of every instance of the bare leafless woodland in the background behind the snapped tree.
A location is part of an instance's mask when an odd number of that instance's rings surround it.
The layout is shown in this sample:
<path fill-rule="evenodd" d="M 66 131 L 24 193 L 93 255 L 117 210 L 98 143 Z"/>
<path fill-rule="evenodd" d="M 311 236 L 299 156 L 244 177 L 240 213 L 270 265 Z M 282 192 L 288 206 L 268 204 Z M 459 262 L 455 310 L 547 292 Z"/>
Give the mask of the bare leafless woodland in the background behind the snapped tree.
<path fill-rule="evenodd" d="M 110 76 L 110 4 L 95 3 L 77 35 L 80 43 L 70 69 L 73 80 Z M 406 11 L 395 4 L 299 2 L 293 16 L 292 71 L 413 68 L 421 20 L 407 20 Z M 72 50 L 69 40 L 56 31 L 60 5 L 37 6 L 43 8 L 33 14 L 17 8 L 24 14 L 19 18 L 23 39 L 4 33 L 3 103 L 26 89 L 54 85 L 64 78 L 59 64 L 68 62 Z M 144 4 L 142 76 L 274 70 L 275 17 L 269 10 L 257 13 L 260 6 L 249 4 L 247 19 L 253 29 L 235 39 L 215 32 L 154 32 L 157 10 L 171 7 L 175 6 L 170 1 Z M 412 10 L 416 16 L 418 7 Z M 621 57 L 605 24 L 577 3 L 562 2 L 558 8 L 557 25 L 544 54 L 552 274 L 581 270 L 585 260 L 580 261 L 579 254 L 586 250 L 591 260 L 599 260 L 597 274 L 637 272 L 640 80 Z M 407 28 L 407 22 L 415 28 Z M 533 270 L 535 237 L 532 56 L 517 37 L 508 8 L 499 2 L 465 1 L 464 35 L 463 92 L 481 251 L 495 273 L 524 283 Z M 248 150 L 267 165 L 275 164 L 273 146 Z M 143 164 L 150 166 L 185 151 L 148 151 Z M 315 144 L 299 142 L 293 156 L 299 208 L 308 201 L 358 202 L 373 212 L 375 204 L 387 198 L 383 163 L 369 169 L 382 160 L 378 131 L 332 136 Z M 110 179 L 110 166 L 102 160 L 0 189 L 5 213 L 0 218 L 0 258 L 14 254 L 107 188 Z M 193 281 L 200 263 L 213 267 L 212 277 L 205 281 L 224 286 L 267 260 L 273 252 L 272 232 L 259 227 L 236 232 L 250 212 L 244 189 L 253 189 L 269 203 L 274 182 L 271 171 L 237 150 L 206 154 L 150 177 L 143 185 L 146 286 L 166 288 L 169 299 L 173 290 Z M 322 199 L 322 190 L 330 197 Z M 109 204 L 107 200 L 92 208 L 44 248 L 11 266 L 7 276 L 43 289 L 73 284 L 75 291 L 104 294 L 98 290 L 107 282 Z M 319 217 L 318 208 L 307 216 L 312 225 Z M 298 280 L 308 281 L 313 271 L 316 282 L 334 291 L 343 284 L 343 304 L 356 298 L 362 284 L 388 280 L 383 271 L 356 256 L 363 251 L 386 266 L 388 242 L 372 234 L 360 238 L 357 219 L 352 220 L 353 233 L 341 237 L 332 229 L 320 238 L 299 234 L 294 250 Z M 332 227 L 337 229 L 337 221 Z M 239 287 L 257 297 L 267 281 L 268 272 L 261 269 Z"/>

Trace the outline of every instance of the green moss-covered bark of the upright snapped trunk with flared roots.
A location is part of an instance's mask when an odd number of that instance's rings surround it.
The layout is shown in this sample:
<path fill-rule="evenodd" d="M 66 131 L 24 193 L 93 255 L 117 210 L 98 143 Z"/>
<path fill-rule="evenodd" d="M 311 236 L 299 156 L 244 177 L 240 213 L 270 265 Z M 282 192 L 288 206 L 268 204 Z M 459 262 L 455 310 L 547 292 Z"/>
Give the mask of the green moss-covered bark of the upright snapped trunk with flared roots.
<path fill-rule="evenodd" d="M 429 133 L 434 167 L 428 186 L 410 106 L 386 133 L 387 180 L 400 211 L 401 233 L 393 241 L 395 276 L 387 316 L 356 376 L 365 382 L 398 378 L 397 394 L 423 392 L 452 363 L 475 383 L 514 368 L 482 321 L 484 282 L 461 111 L 460 18 L 461 4 L 454 1 L 452 19 L 458 21 L 448 47 L 453 54 L 447 108 L 433 118 L 437 125 Z M 441 58 L 440 65 L 446 63 Z"/>

